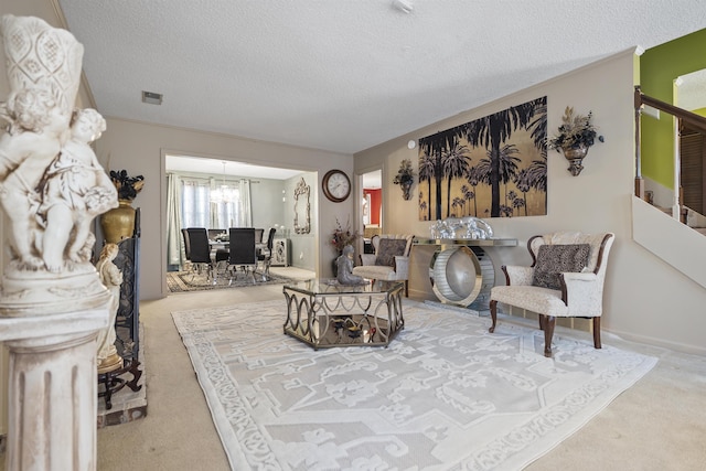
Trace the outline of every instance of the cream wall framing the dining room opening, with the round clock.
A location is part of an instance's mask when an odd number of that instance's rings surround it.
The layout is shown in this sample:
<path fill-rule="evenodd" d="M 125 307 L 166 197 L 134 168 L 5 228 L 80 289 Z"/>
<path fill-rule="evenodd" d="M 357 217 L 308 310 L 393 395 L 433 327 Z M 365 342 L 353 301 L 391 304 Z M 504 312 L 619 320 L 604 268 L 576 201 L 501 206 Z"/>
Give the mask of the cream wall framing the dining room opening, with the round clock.
<path fill-rule="evenodd" d="M 129 174 L 145 175 L 145 188 L 132 205 L 141 211 L 141 259 L 140 259 L 140 299 L 154 299 L 167 296 L 167 266 L 164 214 L 167 208 L 164 154 L 200 156 L 218 160 L 234 160 L 296 169 L 311 172 L 308 182 L 312 192 L 312 227 L 333 229 L 335 217 L 345 220 L 353 212 L 353 199 L 343 203 L 331 203 L 318 197 L 321 192 L 321 178 L 330 169 L 341 169 L 349 175 L 353 171 L 353 157 L 320 150 L 282 146 L 271 142 L 243 139 L 211 132 L 199 132 L 165 126 L 147 125 L 137 121 L 106 117 L 107 130 L 96 141 L 98 159 L 110 170 L 125 169 Z M 315 175 L 315 176 L 313 176 Z M 287 197 L 293 199 L 293 184 L 287 186 Z M 289 183 L 288 183 L 289 185 Z M 285 221 L 292 228 L 293 221 Z M 321 243 L 318 232 L 298 237 L 298 251 L 310 257 L 306 263 L 297 260 L 298 266 L 321 268 L 322 275 L 330 272 L 330 260 L 335 256 L 331 247 Z M 325 238 L 324 238 L 325 240 Z M 292 240 L 293 242 L 293 240 Z M 306 248 L 306 249 L 304 249 Z M 327 271 L 328 269 L 328 271 Z"/>

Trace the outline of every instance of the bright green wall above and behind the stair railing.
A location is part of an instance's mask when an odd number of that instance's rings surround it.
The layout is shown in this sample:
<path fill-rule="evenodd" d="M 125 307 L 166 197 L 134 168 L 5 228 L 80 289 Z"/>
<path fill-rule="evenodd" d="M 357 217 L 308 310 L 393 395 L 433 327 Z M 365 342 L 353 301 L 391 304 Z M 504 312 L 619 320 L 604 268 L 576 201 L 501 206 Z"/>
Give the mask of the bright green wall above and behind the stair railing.
<path fill-rule="evenodd" d="M 642 93 L 674 104 L 674 81 L 706 68 L 706 30 L 649 49 L 640 57 Z M 672 115 L 642 118 L 642 174 L 674 189 L 674 124 Z"/>

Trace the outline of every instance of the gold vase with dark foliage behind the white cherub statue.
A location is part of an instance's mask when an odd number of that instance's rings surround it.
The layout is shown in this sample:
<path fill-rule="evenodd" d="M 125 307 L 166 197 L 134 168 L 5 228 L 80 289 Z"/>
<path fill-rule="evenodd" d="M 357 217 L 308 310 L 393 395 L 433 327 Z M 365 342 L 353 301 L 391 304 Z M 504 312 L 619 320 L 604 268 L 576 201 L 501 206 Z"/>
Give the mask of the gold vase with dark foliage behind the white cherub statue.
<path fill-rule="evenodd" d="M 132 237 L 135 232 L 132 200 L 142 191 L 145 176 L 129 176 L 126 170 L 111 170 L 110 180 L 118 191 L 118 207 L 108 211 L 100 217 L 100 227 L 105 242 L 117 244 L 124 238 Z"/>

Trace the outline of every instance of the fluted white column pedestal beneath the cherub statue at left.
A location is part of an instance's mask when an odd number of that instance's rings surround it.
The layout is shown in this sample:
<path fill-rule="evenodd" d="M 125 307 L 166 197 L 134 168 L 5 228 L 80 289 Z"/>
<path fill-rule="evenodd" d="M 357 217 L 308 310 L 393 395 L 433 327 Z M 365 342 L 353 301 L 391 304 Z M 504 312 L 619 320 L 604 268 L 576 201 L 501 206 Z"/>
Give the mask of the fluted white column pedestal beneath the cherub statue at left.
<path fill-rule="evenodd" d="M 0 342 L 10 353 L 8 470 L 96 469 L 96 338 L 108 325 L 110 295 L 95 270 L 84 275 L 79 279 L 86 281 L 86 297 L 51 302 L 35 292 L 42 302 L 34 306 L 32 296 L 19 296 L 3 279 Z M 39 291 L 45 298 L 51 298 L 49 291 L 66 295 L 53 288 Z M 56 312 L 68 306 L 76 310 Z"/>

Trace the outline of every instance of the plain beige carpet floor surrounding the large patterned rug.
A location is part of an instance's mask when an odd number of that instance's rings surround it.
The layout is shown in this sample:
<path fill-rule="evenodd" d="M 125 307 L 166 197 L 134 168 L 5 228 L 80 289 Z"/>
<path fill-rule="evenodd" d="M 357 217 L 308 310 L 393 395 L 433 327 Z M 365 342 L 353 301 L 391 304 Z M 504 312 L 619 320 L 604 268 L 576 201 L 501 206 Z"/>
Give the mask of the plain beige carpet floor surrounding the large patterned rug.
<path fill-rule="evenodd" d="M 292 271 L 284 275 L 293 276 Z M 229 470 L 171 312 L 277 299 L 284 302 L 281 286 L 175 293 L 141 302 L 149 414 L 141 420 L 98 430 L 97 469 Z M 557 328 L 559 331 L 563 329 Z M 586 340 L 590 341 L 588 335 Z M 656 356 L 659 363 L 526 470 L 706 469 L 706 357 L 623 341 L 606 332 L 603 342 Z M 0 470 L 4 470 L 3 456 Z"/>

